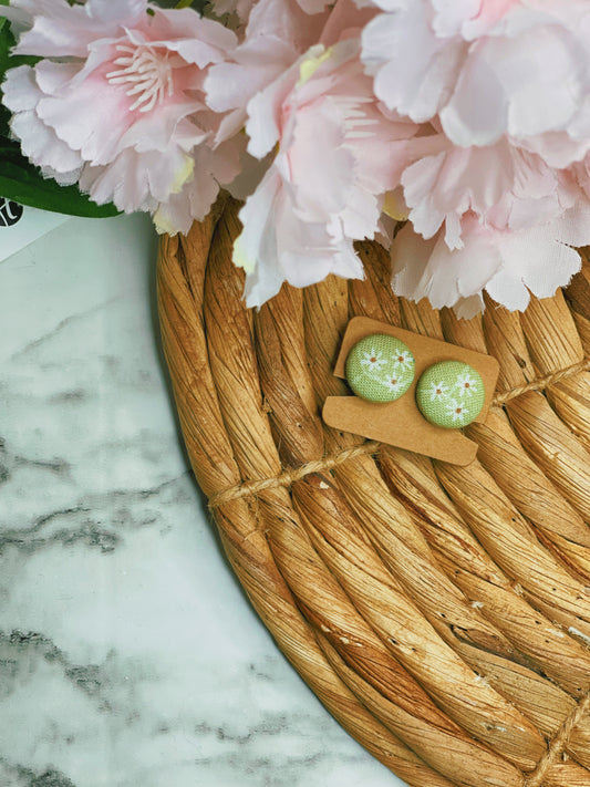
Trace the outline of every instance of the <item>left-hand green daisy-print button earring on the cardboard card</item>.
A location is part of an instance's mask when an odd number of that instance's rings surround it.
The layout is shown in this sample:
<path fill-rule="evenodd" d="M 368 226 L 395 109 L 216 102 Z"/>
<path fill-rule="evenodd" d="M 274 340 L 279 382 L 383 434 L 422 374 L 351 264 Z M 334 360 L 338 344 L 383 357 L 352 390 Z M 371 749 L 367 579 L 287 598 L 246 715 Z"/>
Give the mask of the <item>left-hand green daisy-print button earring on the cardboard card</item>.
<path fill-rule="evenodd" d="M 414 356 L 398 339 L 365 336 L 350 351 L 346 379 L 353 392 L 369 402 L 394 402 L 414 381 Z"/>

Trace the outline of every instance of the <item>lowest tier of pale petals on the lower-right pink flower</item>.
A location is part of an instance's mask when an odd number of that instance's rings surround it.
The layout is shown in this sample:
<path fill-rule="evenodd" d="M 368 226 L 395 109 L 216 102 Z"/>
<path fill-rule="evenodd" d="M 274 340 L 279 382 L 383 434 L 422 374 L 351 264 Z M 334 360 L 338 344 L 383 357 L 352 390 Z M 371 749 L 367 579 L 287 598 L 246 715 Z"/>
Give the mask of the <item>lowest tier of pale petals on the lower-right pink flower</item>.
<path fill-rule="evenodd" d="M 589 228 L 587 200 L 525 229 L 497 230 L 466 214 L 463 246 L 454 250 L 443 230 L 425 240 L 407 222 L 392 246 L 392 286 L 398 296 L 427 298 L 435 309 L 453 307 L 465 319 L 484 309 L 484 290 L 508 309 L 524 310 L 530 293 L 552 297 L 580 270 L 580 255 L 572 247 L 588 244 Z"/>

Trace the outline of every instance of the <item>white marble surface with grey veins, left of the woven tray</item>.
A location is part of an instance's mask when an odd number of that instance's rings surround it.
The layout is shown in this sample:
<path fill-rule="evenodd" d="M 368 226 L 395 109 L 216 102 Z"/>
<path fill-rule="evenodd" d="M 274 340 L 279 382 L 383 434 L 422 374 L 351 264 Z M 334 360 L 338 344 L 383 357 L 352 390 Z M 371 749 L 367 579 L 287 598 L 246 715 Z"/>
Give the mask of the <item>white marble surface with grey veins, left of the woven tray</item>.
<path fill-rule="evenodd" d="M 155 249 L 145 217 L 72 219 L 0 262 L 0 785 L 401 787 L 222 558 L 170 403 Z"/>

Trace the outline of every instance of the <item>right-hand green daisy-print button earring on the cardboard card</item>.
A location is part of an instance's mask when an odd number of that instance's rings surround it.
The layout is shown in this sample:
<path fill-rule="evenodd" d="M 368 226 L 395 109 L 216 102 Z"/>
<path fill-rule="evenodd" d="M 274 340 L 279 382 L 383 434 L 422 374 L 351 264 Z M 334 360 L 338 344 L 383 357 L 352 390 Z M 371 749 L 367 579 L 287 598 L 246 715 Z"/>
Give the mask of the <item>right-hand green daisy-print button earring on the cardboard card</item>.
<path fill-rule="evenodd" d="M 478 372 L 460 361 L 443 361 L 429 366 L 416 386 L 416 403 L 432 424 L 460 428 L 475 421 L 485 401 Z"/>

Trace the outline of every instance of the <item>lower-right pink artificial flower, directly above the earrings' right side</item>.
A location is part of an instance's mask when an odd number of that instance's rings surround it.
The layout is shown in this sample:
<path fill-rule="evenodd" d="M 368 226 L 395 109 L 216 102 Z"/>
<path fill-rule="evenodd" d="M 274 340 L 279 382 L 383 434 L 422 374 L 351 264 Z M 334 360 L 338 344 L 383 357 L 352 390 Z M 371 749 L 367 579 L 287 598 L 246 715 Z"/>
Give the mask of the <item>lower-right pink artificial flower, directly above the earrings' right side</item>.
<path fill-rule="evenodd" d="M 590 244 L 584 165 L 552 168 L 508 137 L 457 147 L 444 134 L 416 136 L 407 156 L 410 221 L 391 247 L 397 294 L 468 318 L 483 309 L 484 290 L 525 309 L 529 291 L 548 298 L 579 270 L 571 247 Z"/>

